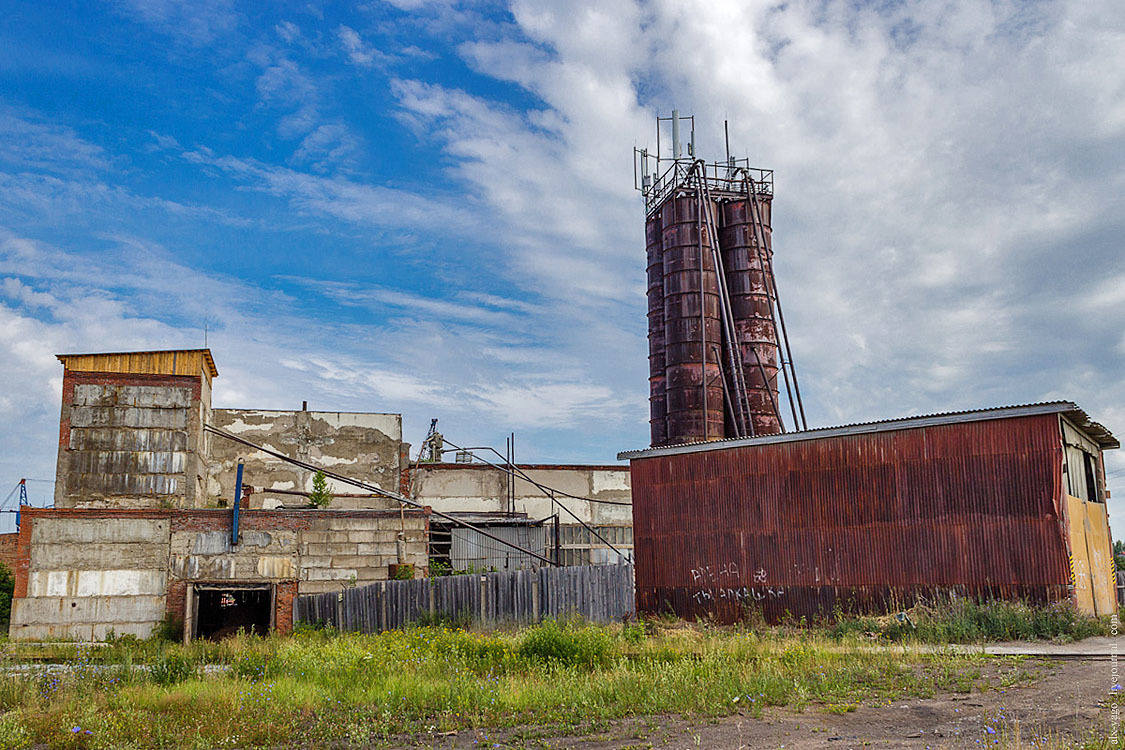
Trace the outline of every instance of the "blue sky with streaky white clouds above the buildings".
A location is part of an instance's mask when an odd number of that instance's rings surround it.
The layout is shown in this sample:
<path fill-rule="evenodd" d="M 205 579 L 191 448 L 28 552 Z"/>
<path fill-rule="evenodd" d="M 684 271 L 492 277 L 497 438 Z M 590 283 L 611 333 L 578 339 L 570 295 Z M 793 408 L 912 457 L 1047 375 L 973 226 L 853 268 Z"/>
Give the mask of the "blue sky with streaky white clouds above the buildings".
<path fill-rule="evenodd" d="M 810 424 L 1069 398 L 1125 433 L 1119 2 L 7 9 L 4 488 L 53 477 L 55 353 L 205 327 L 216 406 L 645 445 L 631 151 L 673 106 L 776 170 Z"/>

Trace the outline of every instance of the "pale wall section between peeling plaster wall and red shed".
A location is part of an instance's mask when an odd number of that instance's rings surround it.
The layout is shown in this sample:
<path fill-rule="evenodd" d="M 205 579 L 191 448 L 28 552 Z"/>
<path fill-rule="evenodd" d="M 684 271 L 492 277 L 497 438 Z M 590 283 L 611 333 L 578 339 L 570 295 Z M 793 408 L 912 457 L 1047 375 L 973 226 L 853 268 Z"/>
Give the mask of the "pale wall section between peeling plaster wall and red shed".
<path fill-rule="evenodd" d="M 628 466 L 520 466 L 529 477 L 577 497 L 612 500 L 626 505 L 587 503 L 559 496 L 560 503 L 592 525 L 632 525 Z M 422 463 L 415 478 L 415 499 L 443 513 L 497 513 L 508 508 L 505 472 L 484 464 Z M 556 513 L 543 490 L 523 480 L 515 481 L 515 513 L 546 518 Z M 573 523 L 564 514 L 562 523 Z"/>

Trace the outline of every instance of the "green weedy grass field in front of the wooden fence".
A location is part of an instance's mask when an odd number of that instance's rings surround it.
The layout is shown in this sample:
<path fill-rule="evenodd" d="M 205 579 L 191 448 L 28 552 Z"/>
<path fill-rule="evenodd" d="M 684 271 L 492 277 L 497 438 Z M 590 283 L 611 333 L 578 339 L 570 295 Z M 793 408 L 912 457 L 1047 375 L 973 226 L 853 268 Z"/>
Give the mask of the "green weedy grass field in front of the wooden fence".
<path fill-rule="evenodd" d="M 627 715 L 846 712 L 972 689 L 988 661 L 872 651 L 814 632 L 649 631 L 544 623 L 494 633 L 418 627 L 190 645 L 61 644 L 38 653 L 65 659 L 69 671 L 43 665 L 0 676 L 0 749 L 321 747 L 466 728 L 590 726 Z M 8 644 L 0 667 L 30 652 Z M 226 670 L 205 674 L 205 665 Z"/>

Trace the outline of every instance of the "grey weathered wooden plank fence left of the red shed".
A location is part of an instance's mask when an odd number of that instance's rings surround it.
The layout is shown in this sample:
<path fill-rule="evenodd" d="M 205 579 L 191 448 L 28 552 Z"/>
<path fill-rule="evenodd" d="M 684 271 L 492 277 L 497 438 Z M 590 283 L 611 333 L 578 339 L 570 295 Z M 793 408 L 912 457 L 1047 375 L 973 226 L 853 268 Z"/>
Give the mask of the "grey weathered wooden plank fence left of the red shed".
<path fill-rule="evenodd" d="M 296 621 L 376 633 L 443 617 L 505 625 L 577 614 L 609 623 L 634 608 L 632 566 L 576 566 L 387 580 L 306 594 L 297 597 Z"/>

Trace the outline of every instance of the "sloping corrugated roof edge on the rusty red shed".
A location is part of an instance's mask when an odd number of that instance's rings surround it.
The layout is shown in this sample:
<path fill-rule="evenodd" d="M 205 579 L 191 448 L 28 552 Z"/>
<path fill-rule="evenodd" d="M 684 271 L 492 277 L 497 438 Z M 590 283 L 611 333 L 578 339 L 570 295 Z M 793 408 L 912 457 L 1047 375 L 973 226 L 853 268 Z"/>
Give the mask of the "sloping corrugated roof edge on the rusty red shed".
<path fill-rule="evenodd" d="M 782 435 L 762 435 L 760 437 L 736 437 L 729 440 L 716 440 L 706 443 L 683 443 L 680 445 L 665 445 L 663 448 L 648 448 L 639 451 L 622 451 L 618 453 L 619 460 L 648 459 L 658 455 L 680 455 L 683 453 L 699 453 L 704 451 L 721 451 L 741 445 L 771 445 L 774 443 L 793 443 L 807 440 L 822 440 L 826 437 L 838 437 L 840 435 L 863 435 L 874 432 L 893 432 L 897 430 L 914 430 L 916 427 L 930 427 L 943 424 L 961 424 L 966 422 L 986 422 L 989 419 L 1010 419 L 1014 417 L 1034 416 L 1037 414 L 1061 414 L 1078 427 L 1084 431 L 1091 440 L 1104 449 L 1120 448 L 1120 443 L 1114 437 L 1105 426 L 1090 419 L 1073 401 L 1043 401 L 1040 404 L 1020 404 L 1016 406 L 994 406 L 984 409 L 971 409 L 968 412 L 940 412 L 937 414 L 926 414 L 915 417 L 900 417 L 897 419 L 881 419 L 878 422 L 857 422 L 854 424 L 839 425 L 835 427 L 818 427 L 816 430 L 804 430 L 801 432 L 789 432 Z"/>

